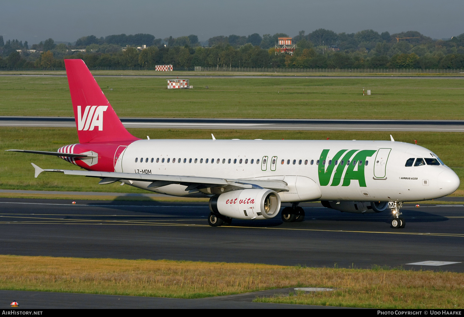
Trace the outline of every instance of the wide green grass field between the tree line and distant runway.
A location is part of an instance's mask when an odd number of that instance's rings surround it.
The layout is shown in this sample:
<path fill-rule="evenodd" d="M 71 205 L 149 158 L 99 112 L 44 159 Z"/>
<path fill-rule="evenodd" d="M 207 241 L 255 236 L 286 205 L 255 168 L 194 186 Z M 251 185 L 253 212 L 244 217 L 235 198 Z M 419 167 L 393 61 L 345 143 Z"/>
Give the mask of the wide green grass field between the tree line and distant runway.
<path fill-rule="evenodd" d="M 193 89 L 137 76 L 97 82 L 121 117 L 464 119 L 461 79 L 205 76 L 191 79 Z M 67 79 L 0 77 L 0 115 L 72 116 Z"/>

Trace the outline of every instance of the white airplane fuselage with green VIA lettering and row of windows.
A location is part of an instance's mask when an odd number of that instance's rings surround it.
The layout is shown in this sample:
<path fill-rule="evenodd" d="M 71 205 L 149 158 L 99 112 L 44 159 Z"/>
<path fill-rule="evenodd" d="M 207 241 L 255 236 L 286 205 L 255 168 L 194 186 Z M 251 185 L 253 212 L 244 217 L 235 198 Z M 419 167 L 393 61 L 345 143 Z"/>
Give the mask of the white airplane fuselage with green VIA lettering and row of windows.
<path fill-rule="evenodd" d="M 154 139 L 130 144 L 115 171 L 283 180 L 290 188 L 279 192 L 283 202 L 417 201 L 458 188 L 458 176 L 446 165 L 407 167 L 410 158 L 437 156 L 424 147 L 394 141 Z M 189 194 L 186 185 L 148 189 L 150 182 L 124 182 L 168 195 L 208 197 Z"/>

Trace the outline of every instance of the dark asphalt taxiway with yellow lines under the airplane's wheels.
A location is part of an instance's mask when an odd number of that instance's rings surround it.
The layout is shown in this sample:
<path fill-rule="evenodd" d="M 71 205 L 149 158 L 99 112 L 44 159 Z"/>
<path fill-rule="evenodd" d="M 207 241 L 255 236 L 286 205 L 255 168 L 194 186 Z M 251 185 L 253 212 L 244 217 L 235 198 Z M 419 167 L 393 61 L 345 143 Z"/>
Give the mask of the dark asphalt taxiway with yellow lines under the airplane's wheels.
<path fill-rule="evenodd" d="M 0 254 L 249 262 L 316 267 L 387 265 L 464 272 L 464 204 L 411 204 L 348 214 L 304 203 L 304 222 L 233 220 L 210 227 L 207 203 L 0 199 Z M 443 266 L 421 261 L 461 262 Z"/>

